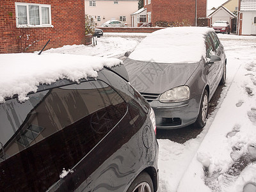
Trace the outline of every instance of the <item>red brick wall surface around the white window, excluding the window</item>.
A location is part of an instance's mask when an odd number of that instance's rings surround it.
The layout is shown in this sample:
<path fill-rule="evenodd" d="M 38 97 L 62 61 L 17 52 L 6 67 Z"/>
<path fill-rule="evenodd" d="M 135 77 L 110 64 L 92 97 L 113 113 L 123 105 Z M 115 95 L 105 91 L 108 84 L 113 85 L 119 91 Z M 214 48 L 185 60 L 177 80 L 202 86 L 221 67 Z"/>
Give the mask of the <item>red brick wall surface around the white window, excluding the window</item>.
<path fill-rule="evenodd" d="M 51 4 L 53 28 L 16 28 L 15 2 Z M 9 13 L 13 14 L 11 18 Z M 12 29 L 11 29 L 12 28 Z M 15 36 L 22 30 L 30 39 L 39 40 L 27 52 L 41 50 L 46 42 L 51 41 L 45 49 L 63 45 L 84 44 L 84 0 L 1 0 L 0 4 L 0 53 L 19 52 Z"/>

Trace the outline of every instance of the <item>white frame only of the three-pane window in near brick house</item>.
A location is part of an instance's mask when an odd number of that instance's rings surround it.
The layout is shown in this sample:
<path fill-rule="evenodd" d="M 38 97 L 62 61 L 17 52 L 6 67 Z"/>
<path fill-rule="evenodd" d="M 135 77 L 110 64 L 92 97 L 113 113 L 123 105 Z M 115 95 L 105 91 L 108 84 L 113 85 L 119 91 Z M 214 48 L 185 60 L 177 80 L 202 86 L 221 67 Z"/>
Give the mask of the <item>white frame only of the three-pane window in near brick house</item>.
<path fill-rule="evenodd" d="M 18 5 L 26 6 L 27 24 L 19 24 Z M 39 25 L 29 24 L 29 8 L 28 8 L 29 5 L 39 6 Z M 42 7 L 49 8 L 49 24 L 42 24 Z M 15 14 L 16 14 L 16 27 L 17 28 L 47 28 L 47 27 L 50 28 L 50 27 L 52 27 L 51 4 L 17 3 L 17 2 L 15 2 Z"/>

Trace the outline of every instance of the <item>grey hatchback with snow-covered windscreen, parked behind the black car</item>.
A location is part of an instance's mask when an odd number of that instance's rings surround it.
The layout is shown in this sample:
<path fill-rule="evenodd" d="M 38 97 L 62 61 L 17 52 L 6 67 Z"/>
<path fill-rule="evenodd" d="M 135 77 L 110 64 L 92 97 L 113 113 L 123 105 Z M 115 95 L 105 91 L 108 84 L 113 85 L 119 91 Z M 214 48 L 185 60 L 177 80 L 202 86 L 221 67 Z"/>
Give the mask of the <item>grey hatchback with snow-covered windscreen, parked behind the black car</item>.
<path fill-rule="evenodd" d="M 211 28 L 166 28 L 148 35 L 124 61 L 148 100 L 158 129 L 204 127 L 208 104 L 226 79 L 224 47 Z"/>

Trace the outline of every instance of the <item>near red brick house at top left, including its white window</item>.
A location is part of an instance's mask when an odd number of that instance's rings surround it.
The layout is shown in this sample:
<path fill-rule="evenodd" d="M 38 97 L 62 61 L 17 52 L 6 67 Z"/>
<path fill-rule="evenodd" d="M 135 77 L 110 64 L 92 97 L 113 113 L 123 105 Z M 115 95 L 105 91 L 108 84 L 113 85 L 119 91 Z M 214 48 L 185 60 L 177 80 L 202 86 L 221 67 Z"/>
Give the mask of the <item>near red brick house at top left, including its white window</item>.
<path fill-rule="evenodd" d="M 0 53 L 85 44 L 84 0 L 2 0 Z"/>

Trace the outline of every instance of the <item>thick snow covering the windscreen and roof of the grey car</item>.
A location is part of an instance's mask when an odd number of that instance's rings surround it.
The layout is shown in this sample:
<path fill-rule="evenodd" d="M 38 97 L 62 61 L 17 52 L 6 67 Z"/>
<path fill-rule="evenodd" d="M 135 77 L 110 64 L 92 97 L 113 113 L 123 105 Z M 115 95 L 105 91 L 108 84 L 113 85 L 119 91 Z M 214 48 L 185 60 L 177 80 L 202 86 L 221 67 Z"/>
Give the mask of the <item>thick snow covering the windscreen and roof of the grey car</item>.
<path fill-rule="evenodd" d="M 129 58 L 157 63 L 195 63 L 205 58 L 205 38 L 211 28 L 166 28 L 148 35 Z"/>

